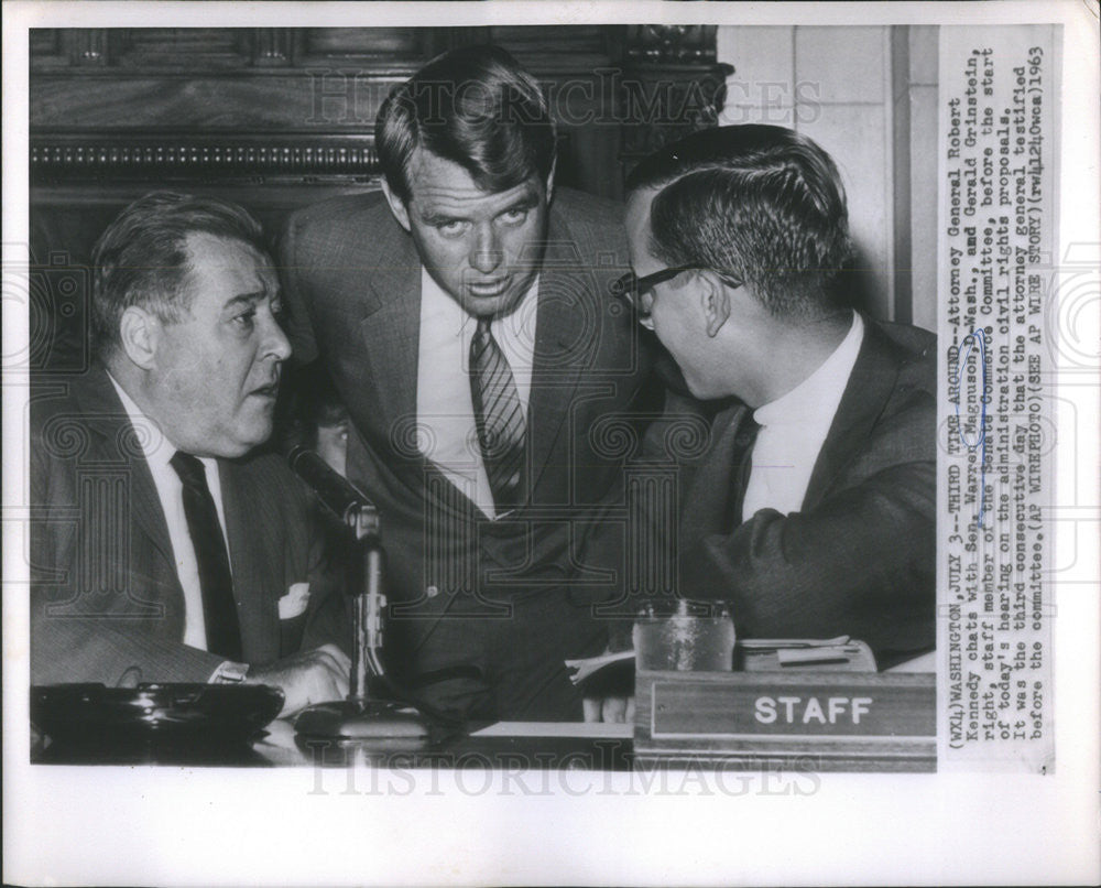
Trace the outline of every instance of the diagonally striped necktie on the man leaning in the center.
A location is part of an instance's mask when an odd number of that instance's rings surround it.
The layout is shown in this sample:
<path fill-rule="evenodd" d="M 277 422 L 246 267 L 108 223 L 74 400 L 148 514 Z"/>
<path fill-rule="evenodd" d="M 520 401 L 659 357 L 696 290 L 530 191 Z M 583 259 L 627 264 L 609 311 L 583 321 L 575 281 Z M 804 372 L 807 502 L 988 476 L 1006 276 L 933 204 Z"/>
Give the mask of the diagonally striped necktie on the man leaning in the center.
<path fill-rule="evenodd" d="M 523 500 L 524 409 L 509 361 L 489 331 L 489 318 L 478 318 L 470 340 L 470 397 L 478 424 L 482 463 L 499 512 Z"/>

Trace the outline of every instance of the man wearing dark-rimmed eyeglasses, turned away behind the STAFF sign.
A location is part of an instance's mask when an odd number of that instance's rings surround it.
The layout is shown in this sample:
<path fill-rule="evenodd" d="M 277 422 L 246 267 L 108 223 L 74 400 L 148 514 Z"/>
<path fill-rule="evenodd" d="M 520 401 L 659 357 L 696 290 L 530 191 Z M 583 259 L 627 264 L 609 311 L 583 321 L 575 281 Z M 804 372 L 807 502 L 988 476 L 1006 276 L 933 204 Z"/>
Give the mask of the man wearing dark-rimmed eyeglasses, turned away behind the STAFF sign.
<path fill-rule="evenodd" d="M 613 293 L 721 408 L 679 473 L 678 594 L 728 602 L 741 637 L 851 635 L 881 667 L 930 649 L 936 338 L 849 307 L 832 160 L 787 129 L 723 127 L 628 185 L 634 272 Z"/>

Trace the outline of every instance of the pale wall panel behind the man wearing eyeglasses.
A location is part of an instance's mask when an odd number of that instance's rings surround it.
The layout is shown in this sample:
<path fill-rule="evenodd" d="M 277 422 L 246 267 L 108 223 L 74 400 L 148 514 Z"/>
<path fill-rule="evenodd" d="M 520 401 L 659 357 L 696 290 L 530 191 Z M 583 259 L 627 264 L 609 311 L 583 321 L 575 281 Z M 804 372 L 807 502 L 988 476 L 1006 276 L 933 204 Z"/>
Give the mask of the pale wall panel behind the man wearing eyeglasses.
<path fill-rule="evenodd" d="M 935 331 L 937 29 L 739 25 L 717 44 L 738 63 L 720 122 L 792 127 L 837 161 L 857 304 Z"/>

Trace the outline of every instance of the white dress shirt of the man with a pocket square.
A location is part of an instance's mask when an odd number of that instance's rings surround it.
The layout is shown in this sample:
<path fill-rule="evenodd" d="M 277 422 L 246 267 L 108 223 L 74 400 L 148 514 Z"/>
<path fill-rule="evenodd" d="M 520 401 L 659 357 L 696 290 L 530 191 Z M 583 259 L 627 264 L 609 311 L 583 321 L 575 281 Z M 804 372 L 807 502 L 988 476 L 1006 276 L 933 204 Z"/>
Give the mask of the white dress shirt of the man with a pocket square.
<path fill-rule="evenodd" d="M 108 373 L 110 376 L 110 373 Z M 172 556 L 175 560 L 176 576 L 184 589 L 184 643 L 193 648 L 206 650 L 206 621 L 203 619 L 203 587 L 199 584 L 199 566 L 195 557 L 195 546 L 187 529 L 187 516 L 184 515 L 183 483 L 176 470 L 170 464 L 177 447 L 161 432 L 160 426 L 133 402 L 122 387 L 110 377 L 115 390 L 119 393 L 122 407 L 130 415 L 130 422 L 138 430 L 145 463 L 153 475 L 156 496 L 161 500 L 161 511 L 168 526 L 168 540 L 172 542 Z M 226 537 L 226 512 L 221 505 L 221 484 L 218 478 L 218 461 L 200 456 L 199 462 L 206 468 L 207 486 L 214 498 L 214 506 L 221 523 L 222 539 L 226 540 L 226 553 L 229 554 L 229 539 Z"/>

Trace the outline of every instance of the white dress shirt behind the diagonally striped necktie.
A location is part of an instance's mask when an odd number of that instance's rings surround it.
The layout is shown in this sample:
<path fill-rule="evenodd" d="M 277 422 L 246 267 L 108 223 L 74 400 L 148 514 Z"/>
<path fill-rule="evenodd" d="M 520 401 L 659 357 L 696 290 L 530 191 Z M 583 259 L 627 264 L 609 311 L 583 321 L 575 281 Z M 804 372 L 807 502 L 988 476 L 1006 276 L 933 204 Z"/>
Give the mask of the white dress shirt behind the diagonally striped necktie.
<path fill-rule="evenodd" d="M 509 315 L 493 318 L 490 332 L 501 347 L 527 419 L 535 355 L 539 280 Z M 478 444 L 470 398 L 470 340 L 478 320 L 421 270 L 421 345 L 417 355 L 417 450 L 430 459 L 489 518 L 493 491 Z"/>

